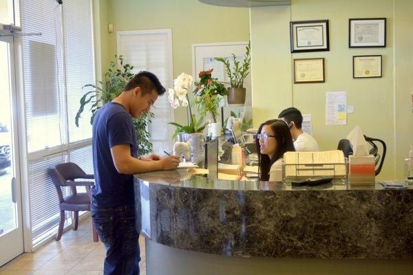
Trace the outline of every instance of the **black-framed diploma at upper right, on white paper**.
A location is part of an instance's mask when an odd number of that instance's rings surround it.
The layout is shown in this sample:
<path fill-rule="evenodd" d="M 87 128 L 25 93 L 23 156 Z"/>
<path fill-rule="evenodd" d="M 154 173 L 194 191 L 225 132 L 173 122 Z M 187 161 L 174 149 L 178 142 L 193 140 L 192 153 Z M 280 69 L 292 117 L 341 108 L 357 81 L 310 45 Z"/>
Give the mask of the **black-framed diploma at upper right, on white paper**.
<path fill-rule="evenodd" d="M 348 47 L 385 47 L 385 18 L 348 19 Z"/>

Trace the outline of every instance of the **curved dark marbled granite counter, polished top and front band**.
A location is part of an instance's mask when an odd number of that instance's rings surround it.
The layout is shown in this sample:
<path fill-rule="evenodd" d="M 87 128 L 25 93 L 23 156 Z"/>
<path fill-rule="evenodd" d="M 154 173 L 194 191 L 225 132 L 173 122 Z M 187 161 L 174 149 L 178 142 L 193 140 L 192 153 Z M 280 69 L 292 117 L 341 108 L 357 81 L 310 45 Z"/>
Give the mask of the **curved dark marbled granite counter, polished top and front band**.
<path fill-rule="evenodd" d="M 186 170 L 134 181 L 137 228 L 162 245 L 226 256 L 413 259 L 412 186 L 292 188 Z"/>

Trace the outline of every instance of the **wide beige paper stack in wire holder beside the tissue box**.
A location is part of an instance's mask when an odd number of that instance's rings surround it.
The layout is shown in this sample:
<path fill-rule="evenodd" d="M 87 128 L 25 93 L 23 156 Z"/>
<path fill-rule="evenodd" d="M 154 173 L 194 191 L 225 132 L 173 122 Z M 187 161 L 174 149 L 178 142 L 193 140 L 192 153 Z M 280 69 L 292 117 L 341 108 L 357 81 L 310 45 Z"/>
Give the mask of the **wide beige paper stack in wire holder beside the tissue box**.
<path fill-rule="evenodd" d="M 286 152 L 285 177 L 346 176 L 343 151 Z"/>

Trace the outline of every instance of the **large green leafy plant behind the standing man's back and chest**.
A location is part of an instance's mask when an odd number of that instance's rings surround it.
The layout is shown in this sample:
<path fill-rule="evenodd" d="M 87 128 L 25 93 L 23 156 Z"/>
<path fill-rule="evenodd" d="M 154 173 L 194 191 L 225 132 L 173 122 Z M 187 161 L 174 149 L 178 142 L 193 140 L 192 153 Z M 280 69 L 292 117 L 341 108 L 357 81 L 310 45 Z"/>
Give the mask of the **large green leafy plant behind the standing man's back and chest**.
<path fill-rule="evenodd" d="M 101 81 L 99 81 L 99 86 L 88 84 L 82 87 L 82 89 L 92 88 L 92 91 L 87 91 L 81 97 L 81 106 L 79 107 L 75 118 L 76 126 L 79 126 L 79 118 L 81 118 L 81 114 L 85 111 L 85 107 L 88 104 L 91 104 L 88 111 L 91 113 L 90 124 L 93 124 L 96 111 L 98 111 L 98 109 L 100 109 L 107 102 L 111 102 L 119 96 L 129 80 L 134 78 L 134 74 L 131 72 L 132 69 L 134 69 L 134 66 L 124 64 L 123 56 L 117 56 L 115 54 L 115 61 L 111 61 L 109 63 L 109 68 L 105 74 L 107 79 L 105 87 L 103 87 L 103 83 Z M 149 124 L 151 124 L 152 118 L 153 113 L 151 111 L 142 113 L 139 118 L 134 118 L 139 155 L 147 155 L 152 151 L 152 144 L 149 141 L 151 135 L 147 131 Z"/>

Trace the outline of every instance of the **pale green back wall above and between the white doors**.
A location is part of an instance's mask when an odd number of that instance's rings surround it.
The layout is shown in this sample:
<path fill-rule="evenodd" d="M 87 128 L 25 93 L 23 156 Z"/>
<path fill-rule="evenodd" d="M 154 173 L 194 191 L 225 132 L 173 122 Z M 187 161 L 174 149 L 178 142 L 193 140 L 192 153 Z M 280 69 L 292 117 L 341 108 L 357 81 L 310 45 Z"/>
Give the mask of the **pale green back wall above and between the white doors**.
<path fill-rule="evenodd" d="M 197 0 L 100 0 L 103 37 L 103 72 L 116 54 L 116 31 L 172 29 L 173 76 L 191 74 L 193 43 L 248 41 L 249 14 L 246 8 L 222 8 Z M 107 33 L 107 23 L 114 32 Z M 175 112 L 176 122 L 186 123 L 183 108 Z"/>

